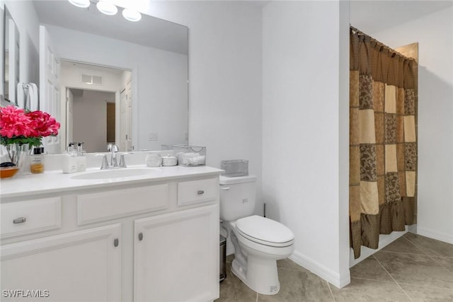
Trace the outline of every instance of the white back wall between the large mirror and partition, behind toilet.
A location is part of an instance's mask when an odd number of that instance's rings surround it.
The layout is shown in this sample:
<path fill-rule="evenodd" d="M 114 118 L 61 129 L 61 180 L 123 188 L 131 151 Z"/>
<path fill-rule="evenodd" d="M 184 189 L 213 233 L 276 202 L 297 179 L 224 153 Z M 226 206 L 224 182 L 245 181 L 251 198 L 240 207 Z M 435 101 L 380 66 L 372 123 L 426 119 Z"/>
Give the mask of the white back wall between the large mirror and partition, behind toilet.
<path fill-rule="evenodd" d="M 261 178 L 261 5 L 254 1 L 153 1 L 148 13 L 189 27 L 189 142 L 207 165 L 248 159 Z"/>

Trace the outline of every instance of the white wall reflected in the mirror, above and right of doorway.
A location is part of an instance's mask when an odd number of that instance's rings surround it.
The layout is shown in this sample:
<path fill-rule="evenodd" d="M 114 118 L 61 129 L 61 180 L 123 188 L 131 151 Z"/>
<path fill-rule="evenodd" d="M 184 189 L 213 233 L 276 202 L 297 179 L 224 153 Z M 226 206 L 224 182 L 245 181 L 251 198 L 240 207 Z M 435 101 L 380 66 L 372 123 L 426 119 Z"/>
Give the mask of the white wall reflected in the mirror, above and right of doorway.
<path fill-rule="evenodd" d="M 60 57 L 132 71 L 134 150 L 183 143 L 188 128 L 187 57 L 129 42 L 45 25 Z M 166 81 L 161 81 L 165 79 Z M 149 132 L 159 141 L 149 141 Z"/>

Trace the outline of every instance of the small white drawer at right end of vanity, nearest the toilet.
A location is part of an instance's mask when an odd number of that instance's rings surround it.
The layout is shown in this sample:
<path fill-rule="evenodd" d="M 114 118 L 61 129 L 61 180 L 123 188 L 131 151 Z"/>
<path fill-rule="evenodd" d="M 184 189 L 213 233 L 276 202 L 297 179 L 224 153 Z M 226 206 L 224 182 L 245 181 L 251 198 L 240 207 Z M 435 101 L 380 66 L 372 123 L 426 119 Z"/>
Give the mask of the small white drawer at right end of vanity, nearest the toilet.
<path fill-rule="evenodd" d="M 178 206 L 210 202 L 219 196 L 219 180 L 190 180 L 178 182 Z"/>

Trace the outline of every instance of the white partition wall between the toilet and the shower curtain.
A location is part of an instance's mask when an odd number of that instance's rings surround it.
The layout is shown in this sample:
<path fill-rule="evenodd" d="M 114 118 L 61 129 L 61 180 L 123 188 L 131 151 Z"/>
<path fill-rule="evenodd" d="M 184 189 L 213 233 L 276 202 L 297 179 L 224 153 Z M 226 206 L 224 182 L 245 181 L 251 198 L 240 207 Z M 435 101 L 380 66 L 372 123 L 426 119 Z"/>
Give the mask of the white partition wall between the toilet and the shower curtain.
<path fill-rule="evenodd" d="M 348 17 L 339 1 L 263 8 L 264 201 L 294 231 L 292 259 L 338 287 L 350 281 Z"/>

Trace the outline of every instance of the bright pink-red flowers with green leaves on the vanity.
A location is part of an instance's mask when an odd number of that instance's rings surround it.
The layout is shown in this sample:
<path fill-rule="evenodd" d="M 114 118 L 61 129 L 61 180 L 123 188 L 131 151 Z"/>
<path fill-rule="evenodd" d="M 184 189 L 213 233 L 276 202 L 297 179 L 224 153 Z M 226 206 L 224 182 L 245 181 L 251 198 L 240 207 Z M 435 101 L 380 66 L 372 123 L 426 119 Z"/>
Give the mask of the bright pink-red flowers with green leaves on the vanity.
<path fill-rule="evenodd" d="M 0 144 L 4 146 L 40 146 L 42 137 L 57 135 L 59 127 L 59 122 L 47 112 L 25 112 L 12 105 L 0 108 Z"/>

